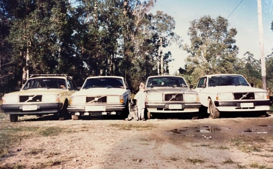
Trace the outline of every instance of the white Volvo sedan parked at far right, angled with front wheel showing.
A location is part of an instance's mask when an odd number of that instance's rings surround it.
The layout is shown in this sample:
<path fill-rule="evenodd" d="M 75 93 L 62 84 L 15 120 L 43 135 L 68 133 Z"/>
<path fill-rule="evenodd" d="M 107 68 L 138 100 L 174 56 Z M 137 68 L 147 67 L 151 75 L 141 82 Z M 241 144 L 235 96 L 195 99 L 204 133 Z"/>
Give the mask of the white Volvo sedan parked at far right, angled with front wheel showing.
<path fill-rule="evenodd" d="M 255 111 L 265 114 L 271 102 L 266 90 L 253 88 L 239 74 L 212 74 L 199 79 L 196 89 L 211 118 L 220 112 Z"/>

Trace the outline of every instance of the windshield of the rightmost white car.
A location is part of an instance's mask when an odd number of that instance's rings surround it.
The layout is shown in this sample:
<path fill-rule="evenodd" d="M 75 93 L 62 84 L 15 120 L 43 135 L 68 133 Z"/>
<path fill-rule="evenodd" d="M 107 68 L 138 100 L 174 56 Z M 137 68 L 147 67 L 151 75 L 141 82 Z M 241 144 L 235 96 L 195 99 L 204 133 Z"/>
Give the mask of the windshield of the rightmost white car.
<path fill-rule="evenodd" d="M 249 86 L 249 84 L 243 76 L 220 75 L 210 77 L 208 80 L 208 86 Z"/>

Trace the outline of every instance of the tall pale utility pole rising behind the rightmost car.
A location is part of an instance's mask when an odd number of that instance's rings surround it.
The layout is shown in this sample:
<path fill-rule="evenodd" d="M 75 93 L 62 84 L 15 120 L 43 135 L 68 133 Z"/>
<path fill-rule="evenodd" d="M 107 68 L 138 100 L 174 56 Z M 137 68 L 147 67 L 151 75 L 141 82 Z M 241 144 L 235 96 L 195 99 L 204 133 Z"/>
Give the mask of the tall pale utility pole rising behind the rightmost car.
<path fill-rule="evenodd" d="M 266 90 L 266 70 L 265 70 L 265 58 L 263 49 L 263 28 L 262 28 L 262 7 L 261 0 L 257 0 L 258 7 L 258 23 L 259 23 L 259 35 L 260 35 L 260 59 L 261 59 L 261 75 L 262 75 L 262 87 Z"/>

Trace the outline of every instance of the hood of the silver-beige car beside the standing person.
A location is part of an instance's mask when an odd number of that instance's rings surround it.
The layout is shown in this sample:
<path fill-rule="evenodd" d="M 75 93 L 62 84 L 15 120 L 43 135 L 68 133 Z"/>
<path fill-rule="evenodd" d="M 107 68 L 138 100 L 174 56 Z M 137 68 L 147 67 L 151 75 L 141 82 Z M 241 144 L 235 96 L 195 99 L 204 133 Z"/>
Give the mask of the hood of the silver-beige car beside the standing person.
<path fill-rule="evenodd" d="M 193 90 L 190 90 L 189 88 L 172 88 L 172 87 L 165 87 L 165 88 L 150 88 L 147 90 L 148 93 L 196 93 Z"/>

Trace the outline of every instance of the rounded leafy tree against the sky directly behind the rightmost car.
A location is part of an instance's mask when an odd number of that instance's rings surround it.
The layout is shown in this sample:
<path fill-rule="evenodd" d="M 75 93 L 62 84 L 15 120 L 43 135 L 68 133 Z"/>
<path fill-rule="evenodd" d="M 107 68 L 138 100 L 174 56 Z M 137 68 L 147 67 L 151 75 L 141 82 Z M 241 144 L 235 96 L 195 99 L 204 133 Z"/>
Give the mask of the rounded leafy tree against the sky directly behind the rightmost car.
<path fill-rule="evenodd" d="M 194 82 L 204 74 L 234 73 L 238 69 L 237 30 L 228 26 L 228 20 L 221 16 L 203 16 L 191 22 L 191 44 L 185 45 L 184 50 L 189 54 L 187 72 L 192 73 Z"/>

